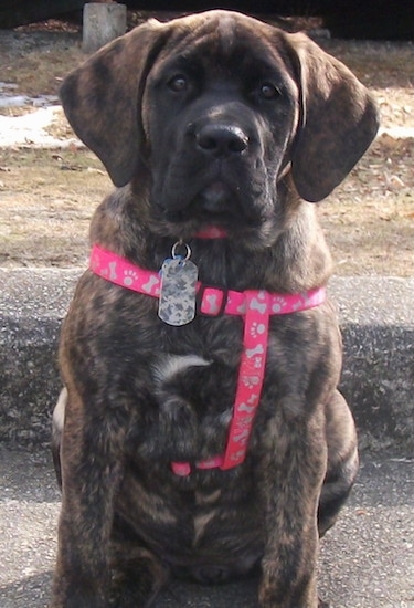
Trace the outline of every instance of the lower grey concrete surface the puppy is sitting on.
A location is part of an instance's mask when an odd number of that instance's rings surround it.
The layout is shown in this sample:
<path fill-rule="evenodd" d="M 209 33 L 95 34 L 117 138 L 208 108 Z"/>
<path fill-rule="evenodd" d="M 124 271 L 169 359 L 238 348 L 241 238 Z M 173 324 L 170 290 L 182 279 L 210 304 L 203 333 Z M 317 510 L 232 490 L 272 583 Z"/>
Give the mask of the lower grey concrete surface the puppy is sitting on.
<path fill-rule="evenodd" d="M 414 461 L 365 454 L 322 541 L 320 596 L 332 608 L 414 608 Z M 0 607 L 45 608 L 60 495 L 47 452 L 0 451 Z M 257 583 L 172 581 L 155 608 L 257 608 Z"/>

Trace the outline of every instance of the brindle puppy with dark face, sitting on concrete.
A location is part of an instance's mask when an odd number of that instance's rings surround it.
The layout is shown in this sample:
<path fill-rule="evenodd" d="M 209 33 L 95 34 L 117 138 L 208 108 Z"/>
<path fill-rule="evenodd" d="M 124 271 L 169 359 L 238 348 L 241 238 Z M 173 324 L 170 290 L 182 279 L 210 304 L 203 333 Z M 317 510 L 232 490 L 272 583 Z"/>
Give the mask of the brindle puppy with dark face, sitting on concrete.
<path fill-rule="evenodd" d="M 93 243 L 158 272 L 182 240 L 203 284 L 241 292 L 327 283 L 309 201 L 346 177 L 378 118 L 358 80 L 305 35 L 225 11 L 151 20 L 75 70 L 62 101 L 118 187 Z M 200 235 L 212 226 L 225 237 Z M 243 317 L 174 327 L 157 305 L 87 271 L 65 321 L 52 607 L 141 607 L 168 573 L 215 583 L 256 566 L 262 608 L 317 607 L 318 530 L 358 468 L 332 305 L 272 316 L 244 463 L 185 476 L 171 463 L 225 449 Z"/>

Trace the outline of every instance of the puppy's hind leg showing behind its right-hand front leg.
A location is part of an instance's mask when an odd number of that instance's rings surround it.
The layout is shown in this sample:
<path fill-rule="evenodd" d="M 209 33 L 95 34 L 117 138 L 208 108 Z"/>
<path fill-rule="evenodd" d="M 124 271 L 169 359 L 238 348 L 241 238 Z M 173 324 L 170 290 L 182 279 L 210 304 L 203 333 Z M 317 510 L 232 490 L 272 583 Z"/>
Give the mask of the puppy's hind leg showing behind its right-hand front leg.
<path fill-rule="evenodd" d="M 335 391 L 326 407 L 328 470 L 319 503 L 319 534 L 329 530 L 343 506 L 358 473 L 355 424 L 342 395 Z"/>

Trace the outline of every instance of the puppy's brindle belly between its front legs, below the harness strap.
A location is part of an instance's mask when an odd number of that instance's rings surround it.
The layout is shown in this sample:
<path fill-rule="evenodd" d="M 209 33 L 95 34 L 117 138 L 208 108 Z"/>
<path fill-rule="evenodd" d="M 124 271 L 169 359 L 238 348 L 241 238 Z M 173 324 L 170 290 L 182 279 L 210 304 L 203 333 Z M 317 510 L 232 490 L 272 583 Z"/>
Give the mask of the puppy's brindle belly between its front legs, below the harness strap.
<path fill-rule="evenodd" d="M 248 569 L 262 547 L 251 464 L 176 476 L 161 463 L 128 469 L 117 512 L 178 574 L 206 564 Z"/>

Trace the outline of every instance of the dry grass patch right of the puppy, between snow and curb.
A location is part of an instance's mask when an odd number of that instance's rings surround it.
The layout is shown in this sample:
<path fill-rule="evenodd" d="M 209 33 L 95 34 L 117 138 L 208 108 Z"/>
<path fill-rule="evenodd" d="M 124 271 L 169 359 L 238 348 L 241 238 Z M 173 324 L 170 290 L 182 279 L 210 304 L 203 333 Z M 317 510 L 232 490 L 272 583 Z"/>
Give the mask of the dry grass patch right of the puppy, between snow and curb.
<path fill-rule="evenodd" d="M 414 141 L 381 137 L 319 209 L 337 274 L 412 276 Z"/>

